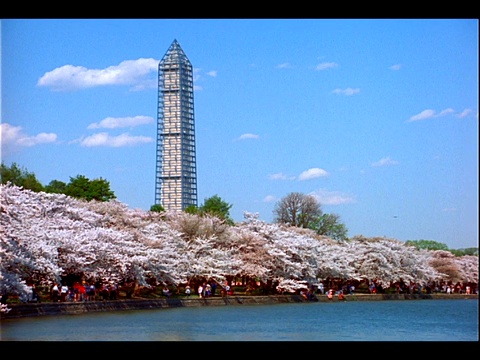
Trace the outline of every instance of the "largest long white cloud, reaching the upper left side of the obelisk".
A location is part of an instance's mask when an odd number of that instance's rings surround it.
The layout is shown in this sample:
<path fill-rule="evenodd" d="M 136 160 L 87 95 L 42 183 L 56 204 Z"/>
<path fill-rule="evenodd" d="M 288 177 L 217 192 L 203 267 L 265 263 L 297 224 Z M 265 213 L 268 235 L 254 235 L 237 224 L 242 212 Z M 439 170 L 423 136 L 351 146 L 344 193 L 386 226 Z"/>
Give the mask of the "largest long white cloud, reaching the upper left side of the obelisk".
<path fill-rule="evenodd" d="M 45 73 L 37 86 L 54 91 L 71 91 L 106 85 L 131 85 L 142 89 L 156 85 L 152 82 L 158 72 L 159 60 L 140 58 L 122 61 L 105 69 L 87 69 L 84 66 L 64 65 Z M 156 78 L 156 77 L 155 77 Z"/>

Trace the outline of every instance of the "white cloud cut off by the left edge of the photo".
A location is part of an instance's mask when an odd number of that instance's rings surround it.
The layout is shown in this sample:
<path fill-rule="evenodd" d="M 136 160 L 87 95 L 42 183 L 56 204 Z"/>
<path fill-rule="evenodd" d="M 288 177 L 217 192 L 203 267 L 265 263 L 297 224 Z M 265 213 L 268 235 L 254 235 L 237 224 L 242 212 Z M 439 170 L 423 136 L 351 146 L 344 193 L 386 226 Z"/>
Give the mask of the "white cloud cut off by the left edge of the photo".
<path fill-rule="evenodd" d="M 55 133 L 42 132 L 29 136 L 23 133 L 22 127 L 12 126 L 8 123 L 0 124 L 0 136 L 3 155 L 16 151 L 21 147 L 31 147 L 57 141 L 57 134 Z"/>

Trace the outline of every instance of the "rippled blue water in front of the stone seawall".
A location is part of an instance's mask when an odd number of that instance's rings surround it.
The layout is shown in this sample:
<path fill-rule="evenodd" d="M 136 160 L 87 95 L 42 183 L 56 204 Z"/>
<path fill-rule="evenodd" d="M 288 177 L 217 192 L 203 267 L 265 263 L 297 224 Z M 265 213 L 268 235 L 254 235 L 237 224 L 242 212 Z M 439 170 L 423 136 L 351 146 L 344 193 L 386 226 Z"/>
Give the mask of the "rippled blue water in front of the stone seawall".
<path fill-rule="evenodd" d="M 2 320 L 2 341 L 478 341 L 478 299 L 182 307 Z"/>

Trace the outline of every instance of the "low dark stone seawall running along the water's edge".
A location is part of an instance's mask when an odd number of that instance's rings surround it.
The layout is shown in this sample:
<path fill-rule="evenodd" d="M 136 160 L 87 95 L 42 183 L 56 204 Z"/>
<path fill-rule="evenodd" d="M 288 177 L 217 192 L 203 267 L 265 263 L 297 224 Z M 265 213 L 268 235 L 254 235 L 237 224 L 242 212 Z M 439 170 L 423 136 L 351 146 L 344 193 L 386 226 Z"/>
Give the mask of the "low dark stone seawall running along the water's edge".
<path fill-rule="evenodd" d="M 478 299 L 478 294 L 354 294 L 346 295 L 345 301 L 380 301 L 380 300 L 462 300 Z M 338 302 L 337 297 L 328 300 L 326 295 L 318 294 L 315 301 Z M 82 314 L 87 312 L 122 311 L 162 309 L 176 307 L 200 307 L 200 306 L 239 306 L 239 305 L 272 305 L 281 303 L 313 302 L 306 300 L 300 295 L 270 295 L 270 296 L 228 296 L 211 297 L 200 299 L 197 296 L 191 298 L 160 298 L 160 299 L 129 299 L 129 300 L 106 300 L 65 303 L 28 303 L 9 304 L 11 309 L 8 313 L 1 313 L 1 319 Z"/>

